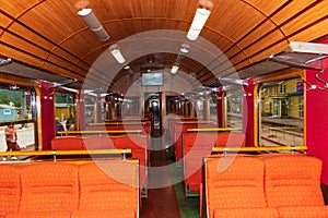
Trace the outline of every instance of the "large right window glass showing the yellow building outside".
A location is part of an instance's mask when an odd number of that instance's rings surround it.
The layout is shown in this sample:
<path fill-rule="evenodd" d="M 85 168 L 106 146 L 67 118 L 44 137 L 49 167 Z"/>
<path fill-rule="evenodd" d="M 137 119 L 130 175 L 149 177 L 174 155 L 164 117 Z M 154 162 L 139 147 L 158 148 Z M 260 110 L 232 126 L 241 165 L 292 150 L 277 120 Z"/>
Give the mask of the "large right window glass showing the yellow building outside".
<path fill-rule="evenodd" d="M 279 88 L 279 93 L 268 89 Z M 259 145 L 304 144 L 304 97 L 301 78 L 265 83 L 259 88 Z"/>

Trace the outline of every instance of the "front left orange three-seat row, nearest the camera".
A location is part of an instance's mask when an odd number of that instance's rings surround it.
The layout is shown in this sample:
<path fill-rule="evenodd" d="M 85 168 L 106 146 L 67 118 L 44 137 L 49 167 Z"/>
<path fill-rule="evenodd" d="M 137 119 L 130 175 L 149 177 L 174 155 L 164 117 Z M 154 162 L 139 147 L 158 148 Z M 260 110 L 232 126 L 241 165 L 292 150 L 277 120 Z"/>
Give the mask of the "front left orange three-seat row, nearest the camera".
<path fill-rule="evenodd" d="M 0 165 L 0 217 L 139 217 L 138 160 Z"/>

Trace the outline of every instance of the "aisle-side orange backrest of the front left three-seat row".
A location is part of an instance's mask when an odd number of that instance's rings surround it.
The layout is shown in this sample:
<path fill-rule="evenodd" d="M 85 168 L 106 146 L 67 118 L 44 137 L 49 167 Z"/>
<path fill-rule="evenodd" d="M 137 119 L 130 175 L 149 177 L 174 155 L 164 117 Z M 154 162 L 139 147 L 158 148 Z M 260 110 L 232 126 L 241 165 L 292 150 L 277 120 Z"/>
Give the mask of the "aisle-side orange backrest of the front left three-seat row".
<path fill-rule="evenodd" d="M 79 210 L 139 211 L 138 162 L 99 161 L 80 166 Z"/>

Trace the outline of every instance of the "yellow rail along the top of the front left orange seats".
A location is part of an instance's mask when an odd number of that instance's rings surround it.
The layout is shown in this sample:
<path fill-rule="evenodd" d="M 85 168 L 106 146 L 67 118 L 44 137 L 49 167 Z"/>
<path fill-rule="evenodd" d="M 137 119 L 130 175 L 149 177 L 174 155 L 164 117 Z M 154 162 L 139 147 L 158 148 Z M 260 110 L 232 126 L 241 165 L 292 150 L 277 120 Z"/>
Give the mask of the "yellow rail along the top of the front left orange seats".
<path fill-rule="evenodd" d="M 122 159 L 127 158 L 132 150 L 126 149 L 92 149 L 92 150 L 34 150 L 34 152 L 2 152 L 0 157 L 7 156 L 52 156 L 52 160 L 57 161 L 57 156 L 72 156 L 72 155 L 122 155 Z"/>

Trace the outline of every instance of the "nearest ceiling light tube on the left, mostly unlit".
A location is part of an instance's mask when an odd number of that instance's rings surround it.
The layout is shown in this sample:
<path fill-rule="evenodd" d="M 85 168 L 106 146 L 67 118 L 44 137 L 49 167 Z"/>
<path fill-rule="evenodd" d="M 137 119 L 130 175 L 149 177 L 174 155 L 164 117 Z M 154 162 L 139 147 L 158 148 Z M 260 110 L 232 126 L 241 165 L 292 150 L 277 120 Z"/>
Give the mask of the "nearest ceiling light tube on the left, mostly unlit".
<path fill-rule="evenodd" d="M 101 41 L 106 41 L 109 39 L 109 35 L 97 20 L 92 9 L 81 9 L 78 14 L 83 19 L 91 31 L 95 33 Z"/>

